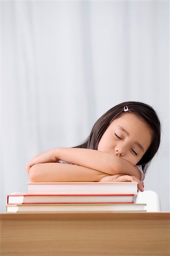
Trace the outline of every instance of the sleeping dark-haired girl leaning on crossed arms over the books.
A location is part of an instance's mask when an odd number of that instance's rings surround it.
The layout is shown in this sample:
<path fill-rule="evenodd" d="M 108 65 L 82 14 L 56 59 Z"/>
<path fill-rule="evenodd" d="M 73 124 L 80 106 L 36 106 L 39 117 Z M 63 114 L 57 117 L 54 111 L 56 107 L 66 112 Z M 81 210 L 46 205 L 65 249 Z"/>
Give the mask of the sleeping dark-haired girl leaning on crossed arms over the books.
<path fill-rule="evenodd" d="M 98 119 L 84 143 L 37 155 L 26 170 L 31 182 L 136 181 L 143 191 L 144 174 L 159 144 L 155 110 L 123 102 Z"/>

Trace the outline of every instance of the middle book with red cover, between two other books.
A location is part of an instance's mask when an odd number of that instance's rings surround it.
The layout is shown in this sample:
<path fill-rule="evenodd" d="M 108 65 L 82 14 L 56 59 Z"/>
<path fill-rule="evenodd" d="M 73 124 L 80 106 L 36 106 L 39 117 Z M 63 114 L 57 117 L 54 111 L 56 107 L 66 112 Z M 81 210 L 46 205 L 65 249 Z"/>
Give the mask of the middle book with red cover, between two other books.
<path fill-rule="evenodd" d="M 83 204 L 83 203 L 135 203 L 136 195 L 7 195 L 7 204 Z"/>

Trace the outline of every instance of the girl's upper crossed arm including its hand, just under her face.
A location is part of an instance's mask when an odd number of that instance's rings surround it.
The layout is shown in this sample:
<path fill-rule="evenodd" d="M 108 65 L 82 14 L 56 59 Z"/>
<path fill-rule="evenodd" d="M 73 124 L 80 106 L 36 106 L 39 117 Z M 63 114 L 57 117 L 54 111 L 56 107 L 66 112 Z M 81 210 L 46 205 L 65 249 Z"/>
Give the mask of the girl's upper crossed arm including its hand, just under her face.
<path fill-rule="evenodd" d="M 55 148 L 35 156 L 27 165 L 27 171 L 37 163 L 57 162 L 64 160 L 78 166 L 104 172 L 105 174 L 125 174 L 140 179 L 140 171 L 131 163 L 107 152 L 88 148 Z"/>

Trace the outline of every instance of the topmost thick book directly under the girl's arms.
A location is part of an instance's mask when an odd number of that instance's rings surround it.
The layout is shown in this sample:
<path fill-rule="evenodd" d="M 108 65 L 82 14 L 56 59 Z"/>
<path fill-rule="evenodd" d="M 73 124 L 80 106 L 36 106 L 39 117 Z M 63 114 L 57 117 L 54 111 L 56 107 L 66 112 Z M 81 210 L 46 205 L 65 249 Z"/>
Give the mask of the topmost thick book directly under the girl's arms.
<path fill-rule="evenodd" d="M 137 182 L 38 182 L 27 183 L 28 194 L 109 195 L 136 194 Z"/>

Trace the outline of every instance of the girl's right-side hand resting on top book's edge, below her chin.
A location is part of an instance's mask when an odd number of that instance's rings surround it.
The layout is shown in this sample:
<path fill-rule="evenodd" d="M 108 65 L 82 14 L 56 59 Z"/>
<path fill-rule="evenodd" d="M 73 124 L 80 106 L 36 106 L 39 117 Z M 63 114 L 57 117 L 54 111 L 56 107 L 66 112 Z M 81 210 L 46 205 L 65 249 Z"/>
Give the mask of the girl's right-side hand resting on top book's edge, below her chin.
<path fill-rule="evenodd" d="M 106 175 L 102 177 L 99 182 L 138 182 L 138 188 L 140 191 L 144 191 L 144 185 L 141 180 L 135 176 L 116 174 L 116 175 Z"/>

